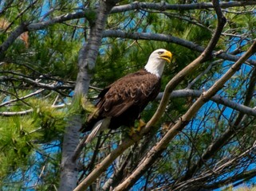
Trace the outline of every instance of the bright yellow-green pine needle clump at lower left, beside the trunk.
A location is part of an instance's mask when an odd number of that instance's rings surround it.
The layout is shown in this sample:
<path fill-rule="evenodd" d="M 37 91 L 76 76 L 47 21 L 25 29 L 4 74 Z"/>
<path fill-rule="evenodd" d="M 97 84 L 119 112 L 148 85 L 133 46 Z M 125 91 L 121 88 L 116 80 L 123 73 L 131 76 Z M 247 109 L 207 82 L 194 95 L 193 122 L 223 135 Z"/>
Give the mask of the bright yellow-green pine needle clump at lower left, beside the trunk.
<path fill-rule="evenodd" d="M 37 161 L 33 155 L 40 145 L 60 140 L 65 129 L 67 112 L 40 99 L 31 99 L 30 105 L 33 107 L 30 115 L 0 118 L 0 183 L 3 185 L 17 170 L 26 172 Z"/>

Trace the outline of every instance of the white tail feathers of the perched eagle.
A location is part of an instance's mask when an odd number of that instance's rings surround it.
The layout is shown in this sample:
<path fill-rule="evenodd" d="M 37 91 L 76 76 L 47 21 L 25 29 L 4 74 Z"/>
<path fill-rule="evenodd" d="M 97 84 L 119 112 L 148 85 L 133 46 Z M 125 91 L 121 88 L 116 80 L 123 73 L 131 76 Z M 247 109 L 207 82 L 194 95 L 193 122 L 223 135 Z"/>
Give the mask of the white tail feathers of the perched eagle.
<path fill-rule="evenodd" d="M 93 126 L 93 131 L 89 134 L 88 138 L 86 138 L 85 143 L 89 143 L 100 133 L 100 131 L 104 131 L 108 128 L 111 118 L 104 118 L 95 123 Z"/>

